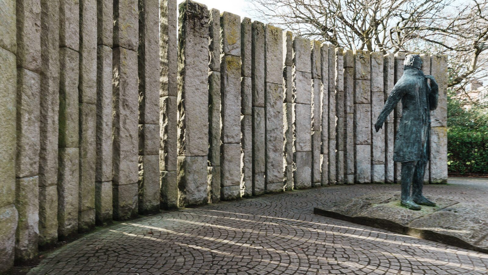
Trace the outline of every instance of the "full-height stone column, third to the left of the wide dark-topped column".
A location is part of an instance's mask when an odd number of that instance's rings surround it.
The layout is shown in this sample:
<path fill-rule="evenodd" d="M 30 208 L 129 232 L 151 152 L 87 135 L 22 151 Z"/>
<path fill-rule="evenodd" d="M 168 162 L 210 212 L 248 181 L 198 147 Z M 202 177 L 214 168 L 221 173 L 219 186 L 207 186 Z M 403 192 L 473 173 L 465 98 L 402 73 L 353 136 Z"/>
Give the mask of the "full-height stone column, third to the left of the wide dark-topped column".
<path fill-rule="evenodd" d="M 113 215 L 135 218 L 138 212 L 138 1 L 114 2 Z"/>

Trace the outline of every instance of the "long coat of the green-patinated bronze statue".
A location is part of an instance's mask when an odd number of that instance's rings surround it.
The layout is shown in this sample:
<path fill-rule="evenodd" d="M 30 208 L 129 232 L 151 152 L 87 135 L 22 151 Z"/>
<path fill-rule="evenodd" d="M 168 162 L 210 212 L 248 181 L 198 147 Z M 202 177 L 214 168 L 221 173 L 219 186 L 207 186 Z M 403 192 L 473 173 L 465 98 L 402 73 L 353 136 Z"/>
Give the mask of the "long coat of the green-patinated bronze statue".
<path fill-rule="evenodd" d="M 403 76 L 393 87 L 378 117 L 378 121 L 384 122 L 402 100 L 402 118 L 395 137 L 394 161 L 429 159 L 430 111 L 437 108 L 438 95 L 438 89 L 429 87 L 422 70 L 405 66 Z"/>

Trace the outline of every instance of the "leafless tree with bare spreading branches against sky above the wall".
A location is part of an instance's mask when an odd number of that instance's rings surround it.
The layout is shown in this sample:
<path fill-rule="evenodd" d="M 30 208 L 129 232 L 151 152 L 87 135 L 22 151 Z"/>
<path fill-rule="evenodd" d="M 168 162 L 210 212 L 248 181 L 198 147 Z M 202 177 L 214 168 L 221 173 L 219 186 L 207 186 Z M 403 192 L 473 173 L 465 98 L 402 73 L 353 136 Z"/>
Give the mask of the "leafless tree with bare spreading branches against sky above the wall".
<path fill-rule="evenodd" d="M 449 87 L 488 78 L 487 0 L 248 0 L 258 18 L 335 46 L 444 53 Z"/>

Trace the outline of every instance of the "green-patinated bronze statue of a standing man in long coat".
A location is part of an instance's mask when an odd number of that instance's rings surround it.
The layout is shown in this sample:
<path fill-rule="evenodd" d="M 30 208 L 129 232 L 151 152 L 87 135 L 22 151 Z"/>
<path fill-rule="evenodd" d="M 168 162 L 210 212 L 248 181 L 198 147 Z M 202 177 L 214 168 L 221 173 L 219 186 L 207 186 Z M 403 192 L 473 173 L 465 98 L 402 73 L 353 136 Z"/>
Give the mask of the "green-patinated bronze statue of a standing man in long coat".
<path fill-rule="evenodd" d="M 418 54 L 407 55 L 404 65 L 403 76 L 393 87 L 374 127 L 378 132 L 402 100 L 402 118 L 395 137 L 393 160 L 402 162 L 402 206 L 420 210 L 420 205 L 435 206 L 422 194 L 422 186 L 429 159 L 430 111 L 437 108 L 439 88 L 434 77 L 422 71 Z M 432 87 L 427 79 L 431 80 Z"/>

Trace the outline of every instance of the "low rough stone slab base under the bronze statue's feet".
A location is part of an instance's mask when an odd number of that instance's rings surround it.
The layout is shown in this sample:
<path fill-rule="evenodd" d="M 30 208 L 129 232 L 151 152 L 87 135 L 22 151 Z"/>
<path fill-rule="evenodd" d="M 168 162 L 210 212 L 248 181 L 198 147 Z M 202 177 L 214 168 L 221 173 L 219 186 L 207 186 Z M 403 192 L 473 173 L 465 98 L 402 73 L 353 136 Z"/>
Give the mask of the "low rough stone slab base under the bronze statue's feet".
<path fill-rule="evenodd" d="M 376 193 L 339 199 L 315 207 L 314 213 L 488 253 L 488 206 L 427 198 L 437 206 L 410 210 L 400 206 L 400 193 Z"/>

